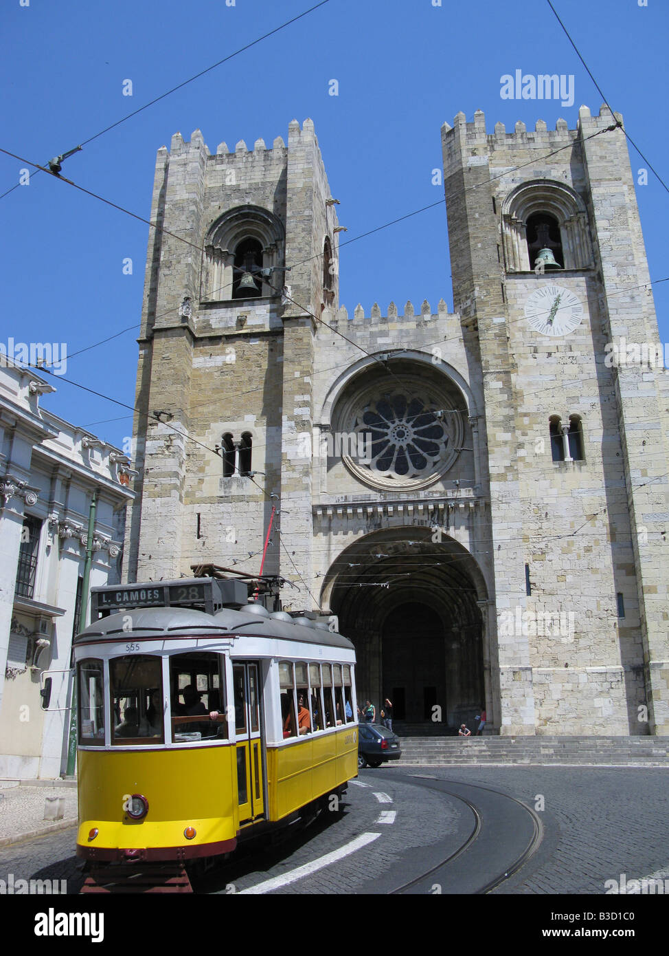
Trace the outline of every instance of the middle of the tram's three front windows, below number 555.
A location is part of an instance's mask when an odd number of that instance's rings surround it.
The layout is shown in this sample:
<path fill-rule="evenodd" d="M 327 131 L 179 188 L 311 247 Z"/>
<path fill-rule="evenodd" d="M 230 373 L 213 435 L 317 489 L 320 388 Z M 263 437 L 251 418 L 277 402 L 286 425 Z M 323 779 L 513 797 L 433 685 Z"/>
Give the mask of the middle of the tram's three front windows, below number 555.
<path fill-rule="evenodd" d="M 109 663 L 112 744 L 162 744 L 162 661 L 126 655 Z"/>

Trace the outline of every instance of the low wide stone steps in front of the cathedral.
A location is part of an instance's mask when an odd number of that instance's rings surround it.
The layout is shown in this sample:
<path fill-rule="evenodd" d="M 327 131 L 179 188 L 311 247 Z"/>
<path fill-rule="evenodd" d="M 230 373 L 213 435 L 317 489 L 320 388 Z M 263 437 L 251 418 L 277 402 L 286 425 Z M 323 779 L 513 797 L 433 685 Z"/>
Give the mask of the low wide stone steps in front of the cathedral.
<path fill-rule="evenodd" d="M 395 766 L 582 764 L 669 767 L 669 737 L 401 737 Z"/>

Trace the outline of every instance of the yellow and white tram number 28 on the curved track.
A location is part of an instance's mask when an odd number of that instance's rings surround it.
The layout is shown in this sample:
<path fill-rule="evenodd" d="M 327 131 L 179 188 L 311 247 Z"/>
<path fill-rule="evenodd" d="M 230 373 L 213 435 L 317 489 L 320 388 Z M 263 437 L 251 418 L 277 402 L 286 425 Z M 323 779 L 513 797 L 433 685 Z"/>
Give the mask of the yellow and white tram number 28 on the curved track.
<path fill-rule="evenodd" d="M 94 588 L 92 620 L 76 852 L 98 873 L 229 854 L 357 776 L 355 652 L 326 622 L 214 577 Z"/>

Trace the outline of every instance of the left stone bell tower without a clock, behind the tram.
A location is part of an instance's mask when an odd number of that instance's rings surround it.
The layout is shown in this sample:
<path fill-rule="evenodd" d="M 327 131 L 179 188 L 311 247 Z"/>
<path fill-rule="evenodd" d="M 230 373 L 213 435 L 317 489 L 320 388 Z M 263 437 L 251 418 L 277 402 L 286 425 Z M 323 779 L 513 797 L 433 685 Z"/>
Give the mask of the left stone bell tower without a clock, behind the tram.
<path fill-rule="evenodd" d="M 290 123 L 287 146 L 221 142 L 210 154 L 196 130 L 158 150 L 128 580 L 191 575 L 194 564 L 257 573 L 276 504 L 282 545 L 275 533 L 263 572 L 294 582 L 311 606 L 304 448 L 317 318 L 338 305 L 329 198 L 311 120 Z"/>

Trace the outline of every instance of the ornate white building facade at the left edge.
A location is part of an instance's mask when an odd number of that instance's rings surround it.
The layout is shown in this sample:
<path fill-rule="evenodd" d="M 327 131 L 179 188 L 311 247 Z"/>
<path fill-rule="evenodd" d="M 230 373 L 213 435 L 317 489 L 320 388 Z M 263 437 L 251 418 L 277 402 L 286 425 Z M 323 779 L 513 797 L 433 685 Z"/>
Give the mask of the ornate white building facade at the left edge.
<path fill-rule="evenodd" d="M 91 586 L 119 580 L 128 459 L 40 405 L 55 391 L 0 366 L 0 778 L 67 771 L 73 634 L 95 503 Z M 48 675 L 46 672 L 49 672 Z M 51 677 L 49 709 L 40 694 Z M 48 685 L 48 684 L 47 684 Z"/>

